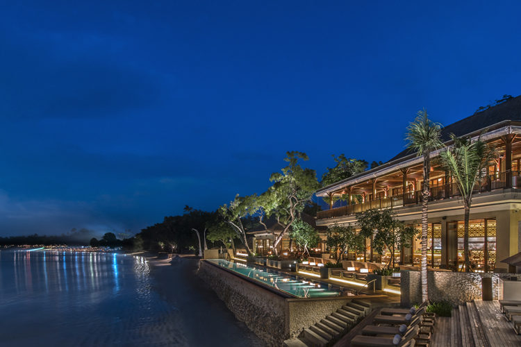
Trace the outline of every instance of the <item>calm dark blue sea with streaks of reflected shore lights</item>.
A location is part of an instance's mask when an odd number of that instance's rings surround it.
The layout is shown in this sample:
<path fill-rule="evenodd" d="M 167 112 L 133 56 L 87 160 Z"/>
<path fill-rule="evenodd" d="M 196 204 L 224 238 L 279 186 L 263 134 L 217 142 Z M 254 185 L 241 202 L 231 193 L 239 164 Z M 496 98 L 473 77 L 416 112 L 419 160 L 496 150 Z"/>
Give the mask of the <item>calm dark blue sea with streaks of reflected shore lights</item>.
<path fill-rule="evenodd" d="M 176 281 L 172 288 L 186 287 L 182 277 Z M 204 299 L 196 289 L 184 290 L 190 294 L 179 296 L 190 296 L 196 304 L 181 312 L 186 300 L 177 307 L 158 294 L 143 257 L 0 251 L 0 346 L 210 346 L 197 340 L 204 334 L 192 326 L 201 321 L 192 307 Z M 217 302 L 212 301 L 217 306 L 213 321 L 236 321 Z M 232 328 L 238 341 L 251 334 Z"/>

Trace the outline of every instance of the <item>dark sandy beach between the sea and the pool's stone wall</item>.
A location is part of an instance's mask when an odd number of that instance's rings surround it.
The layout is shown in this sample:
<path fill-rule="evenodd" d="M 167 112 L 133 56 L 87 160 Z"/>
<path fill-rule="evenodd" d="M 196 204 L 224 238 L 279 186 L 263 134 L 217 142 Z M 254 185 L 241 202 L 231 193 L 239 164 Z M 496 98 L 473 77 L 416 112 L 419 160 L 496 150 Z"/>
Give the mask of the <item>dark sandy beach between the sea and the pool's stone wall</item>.
<path fill-rule="evenodd" d="M 197 259 L 151 257 L 149 264 L 156 291 L 183 317 L 183 335 L 190 346 L 264 346 L 196 276 Z"/>

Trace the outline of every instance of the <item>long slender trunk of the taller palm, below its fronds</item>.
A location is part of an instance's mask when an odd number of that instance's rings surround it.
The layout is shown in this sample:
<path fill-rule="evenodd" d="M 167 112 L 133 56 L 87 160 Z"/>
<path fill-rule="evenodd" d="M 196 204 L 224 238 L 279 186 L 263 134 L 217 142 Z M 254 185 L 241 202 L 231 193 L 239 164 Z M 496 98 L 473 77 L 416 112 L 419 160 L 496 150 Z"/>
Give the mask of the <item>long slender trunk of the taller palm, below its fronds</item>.
<path fill-rule="evenodd" d="M 427 230 L 429 229 L 428 219 L 428 201 L 429 201 L 429 170 L 430 170 L 429 152 L 426 151 L 423 156 L 423 189 L 422 189 L 422 303 L 429 301 L 429 292 L 427 289 Z"/>

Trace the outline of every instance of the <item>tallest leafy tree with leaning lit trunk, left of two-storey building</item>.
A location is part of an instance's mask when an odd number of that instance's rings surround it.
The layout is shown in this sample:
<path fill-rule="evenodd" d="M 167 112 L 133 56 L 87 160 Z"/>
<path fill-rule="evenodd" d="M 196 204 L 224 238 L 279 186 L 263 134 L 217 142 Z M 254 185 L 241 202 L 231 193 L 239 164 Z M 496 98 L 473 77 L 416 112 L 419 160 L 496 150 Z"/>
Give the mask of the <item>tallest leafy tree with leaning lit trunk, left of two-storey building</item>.
<path fill-rule="evenodd" d="M 275 254 L 283 235 L 288 232 L 295 219 L 311 202 L 311 196 L 320 187 L 315 170 L 304 169 L 299 164 L 299 160 L 308 160 L 306 153 L 286 152 L 284 160 L 288 165 L 283 167 L 281 172 L 272 174 L 270 181 L 273 185 L 254 204 L 256 212 L 266 214 L 268 217 L 274 215 L 283 228 L 273 242 Z"/>

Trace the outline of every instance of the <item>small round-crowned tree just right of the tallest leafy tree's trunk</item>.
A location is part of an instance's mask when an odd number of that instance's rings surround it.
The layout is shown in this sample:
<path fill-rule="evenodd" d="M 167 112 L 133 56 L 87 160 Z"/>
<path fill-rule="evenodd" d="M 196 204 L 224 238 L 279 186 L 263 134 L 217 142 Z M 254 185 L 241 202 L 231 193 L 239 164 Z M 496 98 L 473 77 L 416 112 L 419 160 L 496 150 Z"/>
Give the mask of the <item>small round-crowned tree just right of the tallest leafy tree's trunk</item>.
<path fill-rule="evenodd" d="M 336 253 L 336 263 L 343 259 L 348 249 L 356 253 L 365 251 L 363 235 L 358 234 L 352 226 L 339 226 L 335 224 L 327 230 L 326 245 Z"/>

